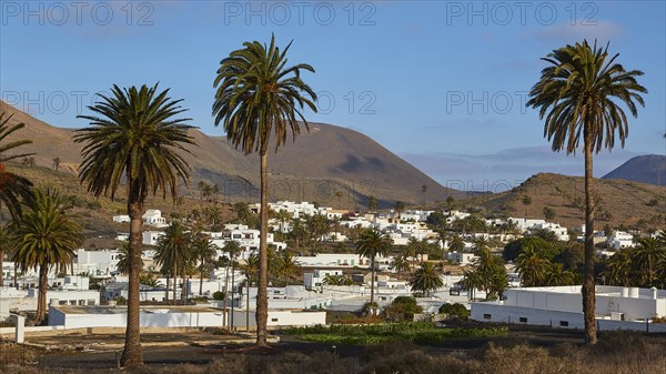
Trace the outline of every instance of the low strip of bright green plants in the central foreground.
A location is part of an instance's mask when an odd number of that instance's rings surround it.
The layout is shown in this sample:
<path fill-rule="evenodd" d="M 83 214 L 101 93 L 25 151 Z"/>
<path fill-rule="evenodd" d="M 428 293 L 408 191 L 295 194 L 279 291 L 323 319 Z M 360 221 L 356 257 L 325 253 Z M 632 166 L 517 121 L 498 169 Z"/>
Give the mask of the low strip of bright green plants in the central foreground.
<path fill-rule="evenodd" d="M 432 322 L 381 323 L 369 325 L 334 324 L 312 327 L 291 327 L 285 333 L 310 342 L 331 344 L 381 344 L 412 342 L 436 344 L 456 337 L 488 337 L 505 335 L 506 327 L 438 328 Z"/>

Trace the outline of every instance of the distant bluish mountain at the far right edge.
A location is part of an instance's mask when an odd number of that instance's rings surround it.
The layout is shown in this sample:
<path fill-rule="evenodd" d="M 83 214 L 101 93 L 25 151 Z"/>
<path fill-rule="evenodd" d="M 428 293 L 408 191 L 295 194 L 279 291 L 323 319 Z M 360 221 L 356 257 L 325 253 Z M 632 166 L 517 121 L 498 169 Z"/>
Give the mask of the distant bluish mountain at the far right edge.
<path fill-rule="evenodd" d="M 635 156 L 602 178 L 666 185 L 666 155 Z"/>

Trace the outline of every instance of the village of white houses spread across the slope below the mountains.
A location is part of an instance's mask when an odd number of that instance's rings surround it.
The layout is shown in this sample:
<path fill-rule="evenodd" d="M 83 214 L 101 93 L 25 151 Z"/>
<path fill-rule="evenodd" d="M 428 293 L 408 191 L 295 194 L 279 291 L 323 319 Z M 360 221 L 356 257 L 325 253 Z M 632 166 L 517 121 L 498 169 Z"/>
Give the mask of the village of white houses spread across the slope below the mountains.
<path fill-rule="evenodd" d="M 271 261 L 276 263 L 270 271 L 272 281 L 269 284 L 269 325 L 273 328 L 325 324 L 326 313 L 367 313 L 371 289 L 375 301 L 371 305 L 372 313 L 376 314 L 381 314 L 401 296 L 416 295 L 416 303 L 422 310 L 418 319 L 438 315 L 445 304 L 461 304 L 471 311 L 472 319 L 482 322 L 511 322 L 513 317 L 514 322 L 552 324 L 554 313 L 559 319 L 557 323 L 561 327 L 582 326 L 581 305 L 575 296 L 579 275 L 576 275 L 576 260 L 572 260 L 576 256 L 575 252 L 569 253 L 572 259 L 568 261 L 573 263 L 563 262 L 567 266 L 564 270 L 567 275 L 561 283 L 539 284 L 533 279 L 533 273 L 538 270 L 521 264 L 521 254 L 514 253 L 512 257 L 508 249 L 525 240 L 538 240 L 546 245 L 562 243 L 568 249 L 576 249 L 579 245 L 577 243 L 583 241 L 584 226 L 571 230 L 544 219 L 482 219 L 460 210 L 405 209 L 403 204 L 396 204 L 393 210 L 365 213 L 317 206 L 309 202 L 278 201 L 269 206 L 271 219 L 266 239 L 272 251 Z M 239 215 L 245 215 L 245 221 L 250 223 L 260 212 L 259 204 L 241 203 L 236 208 L 245 210 Z M 129 222 L 127 215 L 108 219 L 119 223 Z M 142 237 L 142 324 L 253 328 L 254 320 L 248 319 L 248 313 L 254 313 L 256 287 L 254 274 L 249 273 L 248 269 L 252 261 L 256 261 L 260 231 L 242 220 L 223 224 L 221 231 L 201 231 L 200 234 L 206 237 L 214 252 L 203 261 L 189 260 L 190 270 L 179 274 L 184 276 L 173 280 L 164 276 L 170 274 L 170 270 L 155 261 L 160 251 L 164 250 L 161 239 L 168 234 L 168 228 L 173 224 L 171 221 L 154 209 L 143 215 L 147 229 Z M 185 224 L 193 226 L 196 222 L 190 220 Z M 374 259 L 374 280 L 369 273 L 373 266 L 372 259 L 359 254 L 354 247 L 361 232 L 369 229 L 385 234 L 392 243 L 390 252 Z M 302 231 L 302 237 L 299 237 L 299 230 Z M 596 231 L 597 255 L 608 266 L 616 253 L 635 251 L 642 235 L 656 240 L 659 232 Z M 50 326 L 77 328 L 123 325 L 122 305 L 129 297 L 129 283 L 123 269 L 127 252 L 121 246 L 128 239 L 128 233 L 118 233 L 118 247 L 81 247 L 75 252 L 69 273 L 49 272 L 47 300 L 50 301 Z M 229 244 L 232 242 L 238 245 L 233 246 L 236 250 L 230 255 Z M 527 245 L 518 249 L 519 253 L 528 251 Z M 471 283 L 474 277 L 471 274 L 483 261 L 487 261 L 482 259 L 487 255 L 496 260 L 511 259 L 501 261 L 507 281 L 500 292 L 483 283 Z M 280 260 L 282 269 L 279 267 Z M 542 260 L 548 261 L 545 256 Z M 415 269 L 424 263 L 440 270 L 436 276 L 441 282 L 432 289 L 420 289 L 413 281 Z M 0 319 L 6 322 L 10 321 L 11 315 L 30 315 L 37 307 L 38 273 L 30 270 L 17 272 L 18 269 L 18 264 L 3 262 Z M 650 319 L 666 315 L 666 291 L 663 287 L 659 291 L 655 287 L 653 291 L 626 287 L 629 284 L 606 279 L 610 273 L 602 271 L 601 283 L 620 286 L 608 285 L 603 289 L 609 294 L 610 301 L 598 297 L 598 303 L 604 307 L 597 317 L 616 321 L 616 324 L 603 324 L 604 328 L 642 330 Z M 251 276 L 250 281 L 248 275 Z M 534 294 L 534 297 L 547 300 L 559 297 L 559 293 L 572 295 L 572 301 L 559 306 L 545 301 L 546 304 L 541 306 L 536 302 L 529 306 L 522 305 L 524 300 L 521 297 L 524 295 Z M 654 300 L 656 304 L 637 306 L 645 303 L 640 300 Z M 97 317 L 100 311 L 109 311 L 110 307 L 114 319 Z M 163 313 L 171 317 L 159 322 L 152 320 Z M 182 313 L 195 313 L 201 319 L 194 324 L 183 324 L 179 319 Z M 630 322 L 636 324 L 632 325 Z M 655 331 L 660 330 L 655 327 Z"/>

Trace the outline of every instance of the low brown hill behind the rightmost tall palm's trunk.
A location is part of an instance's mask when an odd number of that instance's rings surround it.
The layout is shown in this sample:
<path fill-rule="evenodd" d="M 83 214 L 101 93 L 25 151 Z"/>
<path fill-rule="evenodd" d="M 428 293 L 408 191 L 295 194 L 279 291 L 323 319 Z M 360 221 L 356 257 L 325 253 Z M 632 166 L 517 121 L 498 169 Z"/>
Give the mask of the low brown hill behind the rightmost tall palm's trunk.
<path fill-rule="evenodd" d="M 595 179 L 597 219 L 595 229 L 605 224 L 636 229 L 666 228 L 666 188 L 624 180 Z M 522 203 L 528 195 L 532 203 Z M 544 208 L 554 212 L 551 222 L 566 228 L 584 223 L 585 179 L 552 173 L 533 175 L 519 186 L 503 193 L 472 199 L 488 215 L 544 219 Z"/>

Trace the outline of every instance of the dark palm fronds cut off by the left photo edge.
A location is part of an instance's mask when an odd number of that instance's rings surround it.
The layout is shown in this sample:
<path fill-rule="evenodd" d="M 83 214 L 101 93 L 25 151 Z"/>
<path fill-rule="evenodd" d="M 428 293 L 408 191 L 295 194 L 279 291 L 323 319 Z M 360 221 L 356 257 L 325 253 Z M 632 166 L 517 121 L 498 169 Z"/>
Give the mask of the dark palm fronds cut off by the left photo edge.
<path fill-rule="evenodd" d="M 17 140 L 7 142 L 7 138 L 26 127 L 24 123 L 9 124 L 12 115 L 4 118 L 0 112 L 0 219 L 2 204 L 7 205 L 12 220 L 18 220 L 21 214 L 21 200 L 30 202 L 32 199 L 32 183 L 23 176 L 8 172 L 4 163 L 10 160 L 27 158 L 34 153 L 8 154 L 8 151 L 32 143 L 31 140 Z"/>

